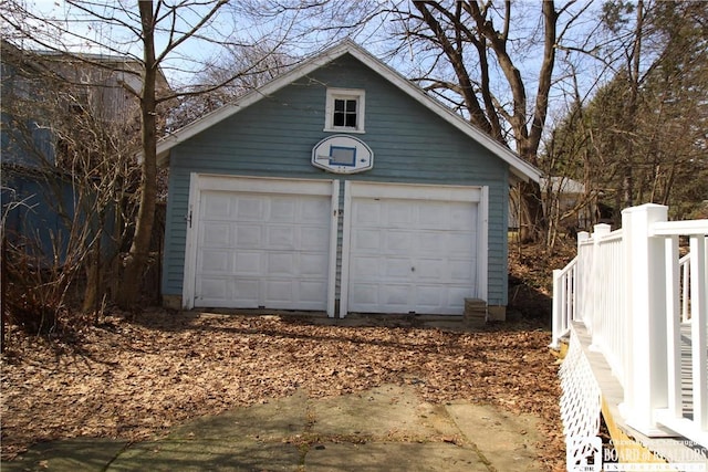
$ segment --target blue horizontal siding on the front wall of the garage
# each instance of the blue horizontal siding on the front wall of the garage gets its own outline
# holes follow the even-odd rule
[[[333,134],[323,132],[327,86],[366,91],[365,134],[355,136],[374,151],[373,169],[343,176],[311,165],[313,146]],[[487,186],[488,303],[507,304],[508,164],[348,54],[170,150],[166,295],[183,293],[190,172]]]

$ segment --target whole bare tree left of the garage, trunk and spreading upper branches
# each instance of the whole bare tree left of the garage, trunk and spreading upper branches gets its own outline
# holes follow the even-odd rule
[[[93,46],[101,52],[127,54],[138,61],[140,69],[135,71],[139,87],[125,83],[126,92],[134,94],[140,106],[140,187],[139,207],[135,219],[133,243],[125,258],[125,274],[122,292],[117,302],[124,307],[133,306],[138,298],[142,275],[149,253],[155,206],[157,199],[156,144],[160,136],[158,126],[159,105],[178,96],[194,95],[231,83],[242,71],[233,71],[221,83],[189,91],[171,91],[157,86],[160,70],[185,72],[189,64],[198,62],[194,57],[184,61],[184,49],[188,42],[207,42],[220,46],[233,46],[260,41],[249,30],[244,39],[238,36],[236,21],[239,11],[247,10],[240,4],[229,4],[226,0],[183,1],[169,3],[140,1],[137,11],[133,4],[104,1],[65,2],[62,15],[51,15],[27,8],[24,2],[7,1],[0,9],[6,32],[23,43],[40,45],[44,49],[72,54],[76,46]],[[243,4],[243,7],[249,7]],[[219,14],[231,15],[227,22],[216,22]],[[295,22],[294,17],[281,22],[273,18],[268,32],[275,46],[284,42]],[[88,24],[88,29],[81,29]],[[228,27],[227,27],[228,25]],[[88,61],[81,55],[77,59]],[[96,62],[97,66],[101,66]],[[194,69],[191,71],[194,73]],[[135,81],[132,81],[135,82]]]

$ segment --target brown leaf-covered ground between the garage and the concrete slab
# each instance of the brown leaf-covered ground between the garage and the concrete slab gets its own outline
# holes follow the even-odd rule
[[[178,423],[303,389],[311,397],[415,385],[427,401],[466,399],[539,416],[548,470],[564,449],[558,365],[548,331],[482,332],[294,314],[150,311],[106,316],[71,338],[9,334],[2,359],[2,458],[72,437],[143,440]]]

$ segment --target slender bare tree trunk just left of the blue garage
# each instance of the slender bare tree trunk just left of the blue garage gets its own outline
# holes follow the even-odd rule
[[[140,93],[142,139],[143,139],[143,177],[140,181],[140,204],[135,222],[135,235],[128,256],[125,261],[123,290],[118,293],[118,305],[125,310],[138,303],[143,275],[149,255],[155,203],[157,200],[157,132],[156,132],[156,96],[157,62],[155,60],[155,21],[153,2],[138,2],[143,28],[144,75]]]

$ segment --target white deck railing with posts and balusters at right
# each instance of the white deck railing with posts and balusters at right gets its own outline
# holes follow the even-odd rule
[[[629,426],[708,447],[708,220],[666,220],[666,207],[644,204],[623,211],[622,230],[579,235],[577,256],[553,271],[551,347],[582,322],[624,388]]]

